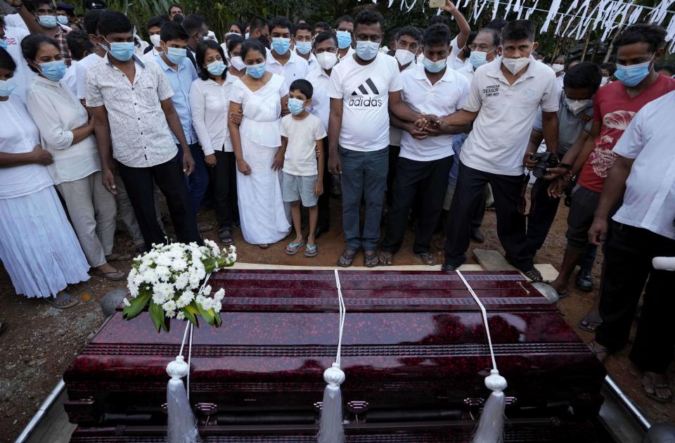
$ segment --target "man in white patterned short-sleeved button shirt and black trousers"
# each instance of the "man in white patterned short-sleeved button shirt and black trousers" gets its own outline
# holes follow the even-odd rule
[[[195,161],[171,101],[171,85],[156,63],[144,65],[134,56],[131,22],[124,14],[101,14],[98,31],[108,53],[86,73],[86,105],[94,117],[103,186],[117,192],[117,167],[149,247],[165,243],[155,213],[154,180],[167,199],[178,240],[201,244],[183,175],[193,172]],[[183,150],[182,165],[172,133]]]

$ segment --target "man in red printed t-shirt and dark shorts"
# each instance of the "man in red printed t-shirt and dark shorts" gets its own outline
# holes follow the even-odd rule
[[[553,193],[559,192],[580,172],[567,217],[567,250],[560,274],[551,283],[560,295],[567,293],[574,267],[589,243],[588,231],[593,224],[600,192],[617,158],[614,146],[638,110],[675,90],[675,79],[659,75],[654,68],[663,53],[665,37],[666,31],[662,27],[642,24],[626,27],[617,37],[615,76],[619,81],[598,89],[593,100],[591,136],[580,153],[579,149],[570,149],[565,154],[563,163],[574,166],[551,185]],[[600,322],[597,308],[591,309],[589,316],[581,322],[582,328],[592,330],[593,325]]]

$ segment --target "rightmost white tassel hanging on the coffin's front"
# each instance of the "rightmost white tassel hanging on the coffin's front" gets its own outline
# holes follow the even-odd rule
[[[506,389],[506,378],[499,375],[496,369],[492,369],[485,378],[485,386],[492,393],[483,406],[473,443],[501,443],[504,437],[506,398],[503,390]]]

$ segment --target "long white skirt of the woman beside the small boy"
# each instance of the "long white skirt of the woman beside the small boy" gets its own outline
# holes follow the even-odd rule
[[[279,172],[272,170],[277,148],[260,146],[241,138],[244,160],[251,174],[237,170],[239,217],[244,240],[252,245],[270,245],[283,240],[290,220],[281,199]]]

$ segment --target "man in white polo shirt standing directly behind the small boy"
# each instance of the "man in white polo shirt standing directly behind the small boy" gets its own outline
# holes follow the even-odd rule
[[[271,50],[267,53],[266,70],[281,75],[286,87],[297,79],[304,79],[309,73],[307,60],[290,50],[293,43],[293,23],[285,17],[276,17],[269,23],[272,37]]]

